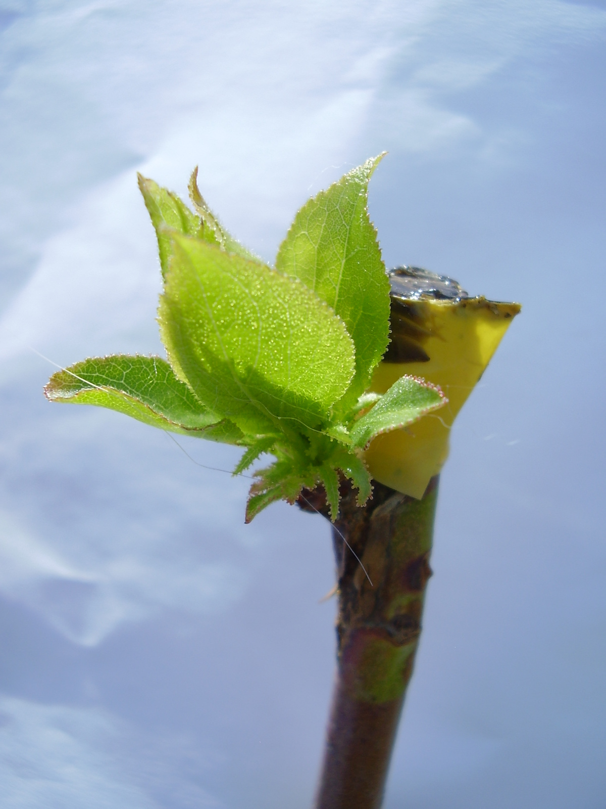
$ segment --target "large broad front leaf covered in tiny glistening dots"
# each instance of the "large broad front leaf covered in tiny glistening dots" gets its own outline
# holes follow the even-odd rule
[[[158,320],[171,365],[246,434],[315,429],[347,389],[343,322],[294,278],[174,236]]]

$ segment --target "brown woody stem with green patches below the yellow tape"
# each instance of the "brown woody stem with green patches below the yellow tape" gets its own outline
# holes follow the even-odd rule
[[[422,500],[376,481],[364,508],[356,506],[347,485],[342,493],[338,530],[333,530],[339,582],[337,681],[315,807],[379,809],[431,576],[438,477],[431,479]],[[322,492],[307,492],[305,498],[309,503],[300,501],[305,510],[313,503],[326,513]]]

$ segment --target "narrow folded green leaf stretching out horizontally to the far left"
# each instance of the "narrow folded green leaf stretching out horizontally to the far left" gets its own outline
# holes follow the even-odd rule
[[[52,401],[96,404],[186,435],[239,443],[242,432],[212,413],[159,357],[90,358],[57,371],[44,393]]]

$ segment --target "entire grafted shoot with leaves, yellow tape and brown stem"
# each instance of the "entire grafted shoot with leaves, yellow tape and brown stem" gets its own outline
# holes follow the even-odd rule
[[[368,218],[382,156],[305,203],[275,267],[225,231],[197,169],[193,211],[139,176],[166,359],[89,358],[44,389],[242,447],[234,474],[273,455],[254,473],[246,522],[284,499],[335,523],[339,671],[318,809],[381,806],[448,432],[520,310],[423,270],[386,272]]]

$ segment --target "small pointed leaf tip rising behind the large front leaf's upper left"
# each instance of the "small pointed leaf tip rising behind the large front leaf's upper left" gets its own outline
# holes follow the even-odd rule
[[[172,250],[170,231],[204,238],[204,228],[200,218],[192,214],[175,193],[161,188],[154,180],[148,180],[141,174],[137,174],[137,179],[158,238],[162,277],[166,277]]]

